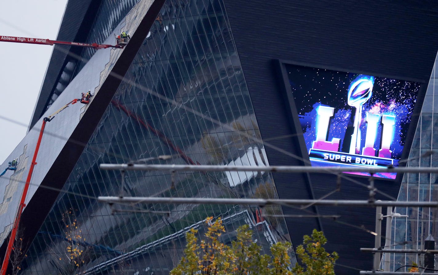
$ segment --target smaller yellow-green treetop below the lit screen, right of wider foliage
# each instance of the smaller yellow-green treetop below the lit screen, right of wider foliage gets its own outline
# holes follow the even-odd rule
[[[339,258],[338,253],[332,254],[325,251],[323,245],[327,239],[322,231],[313,229],[312,235],[304,235],[303,244],[297,247],[295,253],[302,264],[296,264],[292,269],[296,275],[335,275],[335,262]]]

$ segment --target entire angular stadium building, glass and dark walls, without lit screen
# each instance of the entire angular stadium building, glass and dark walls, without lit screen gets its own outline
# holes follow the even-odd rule
[[[330,194],[329,199],[366,199],[366,177],[349,176],[342,180],[339,190],[336,176],[325,174],[122,175],[99,169],[100,163],[131,161],[303,165],[297,128],[292,121],[297,109],[290,108],[281,87],[290,83],[284,81],[287,77],[281,76],[276,67],[281,60],[299,66],[418,81],[421,92],[417,102],[422,103],[426,93],[423,85],[429,81],[438,45],[438,38],[430,36],[437,28],[434,14],[438,13],[424,11],[437,11],[438,6],[387,1],[376,9],[374,4],[350,2],[70,1],[58,40],[109,44],[122,30],[128,31],[132,39],[124,49],[96,51],[71,46],[68,56],[62,51],[64,46],[54,46],[31,130],[8,157],[19,157],[18,168],[0,178],[0,187],[4,188],[0,192],[4,194],[0,204],[0,250],[6,247],[4,240],[11,231],[42,118],[77,98],[80,92],[92,89],[90,104],[71,106],[47,124],[21,220],[22,229],[28,233],[23,236],[32,239],[21,273],[68,274],[76,270],[85,274],[167,274],[181,256],[184,233],[197,228],[202,235],[207,216],[224,219],[226,243],[235,238],[237,226],[250,225],[255,231],[254,241],[265,252],[276,241],[291,239],[296,245],[304,234],[321,229],[329,239],[327,250],[340,255],[336,274],[369,270],[372,256],[359,249],[374,244],[374,235],[368,230],[374,228],[372,208],[312,206],[301,212],[284,208],[285,222],[283,217],[277,219],[281,208],[265,208],[267,215],[262,219],[256,206],[110,206],[95,200],[99,195],[121,193],[277,197],[277,190],[280,198],[317,199]],[[389,12],[403,16],[388,17]],[[367,28],[363,28],[364,22]],[[382,29],[391,31],[382,36],[376,31]],[[76,54],[80,58],[73,57]],[[110,72],[124,76],[121,84]],[[435,147],[436,108],[431,88],[426,97],[412,156]],[[47,110],[46,114],[43,110]],[[419,113],[420,108],[415,107],[413,118]],[[409,132],[413,133],[417,125],[410,126],[413,130]],[[406,141],[408,147],[412,136]],[[160,159],[160,155],[166,157]],[[419,162],[412,159],[409,165],[435,166],[434,158],[432,155]],[[1,166],[5,169],[7,161]],[[432,175],[406,175],[399,200],[435,199],[434,182]],[[393,181],[375,180],[380,194],[393,200],[401,183],[399,177]],[[59,192],[59,188],[64,189]],[[337,192],[333,193],[335,188]],[[393,244],[403,242],[397,248],[421,247],[428,233],[437,239],[434,212],[406,208],[396,211],[410,215],[408,222],[394,222]],[[313,215],[311,219],[297,216],[309,213]],[[340,218],[325,219],[318,214],[336,214]],[[81,255],[76,255],[81,256],[79,268],[65,258],[66,251],[81,251]],[[292,264],[295,261],[293,258]],[[393,269],[412,261],[421,264],[422,260],[392,255]]]

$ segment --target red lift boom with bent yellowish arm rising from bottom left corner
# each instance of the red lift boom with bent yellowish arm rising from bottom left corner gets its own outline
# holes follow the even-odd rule
[[[12,227],[12,230],[11,230],[11,236],[9,238],[9,242],[7,243],[6,254],[5,254],[4,259],[3,259],[3,264],[1,266],[0,275],[6,275],[7,266],[9,264],[9,258],[11,257],[12,246],[14,244],[15,237],[17,236],[18,225],[19,225],[20,219],[21,219],[21,213],[23,212],[23,210],[26,206],[25,199],[26,199],[26,195],[27,195],[27,192],[29,189],[30,180],[32,178],[32,172],[33,172],[33,169],[34,169],[35,164],[36,164],[36,162],[35,162],[36,156],[38,155],[39,145],[41,144],[42,134],[44,133],[44,128],[46,127],[46,123],[53,120],[53,118],[58,113],[60,113],[65,108],[67,108],[70,104],[74,104],[78,101],[81,102],[81,99],[73,99],[71,102],[68,102],[66,105],[64,105],[60,109],[58,109],[55,113],[51,114],[50,116],[46,116],[42,120],[41,130],[39,130],[38,141],[36,142],[35,152],[33,153],[33,158],[32,158],[29,173],[28,173],[28,176],[26,179],[25,187],[23,188],[23,193],[21,194],[20,205],[18,206],[18,210],[17,210],[17,213],[15,215],[15,219],[14,219],[14,226]]]

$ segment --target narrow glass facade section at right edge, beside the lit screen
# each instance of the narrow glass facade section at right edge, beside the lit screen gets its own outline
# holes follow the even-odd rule
[[[438,60],[435,60],[424,105],[421,109],[420,120],[415,132],[412,149],[407,166],[410,167],[437,167],[438,156],[430,155],[430,151],[438,148],[438,74],[436,71]],[[438,201],[436,174],[406,173],[403,177],[398,201]],[[408,215],[408,218],[395,218],[392,221],[392,247],[396,249],[424,249],[424,240],[432,236],[438,240],[436,208],[396,208],[396,213]],[[436,246],[435,246],[436,248]],[[393,270],[403,271],[417,263],[424,266],[424,256],[413,254],[392,254],[391,266]],[[435,268],[437,264],[435,264]]]

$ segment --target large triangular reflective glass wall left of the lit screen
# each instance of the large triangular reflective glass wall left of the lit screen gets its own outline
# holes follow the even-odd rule
[[[102,1],[98,14],[105,15],[96,18],[90,41],[109,35],[135,4],[122,2]],[[91,55],[87,50],[82,57]],[[79,62],[75,71],[81,69],[87,67]],[[159,160],[160,155],[170,159]],[[145,161],[268,165],[222,0],[166,1],[33,240],[21,273],[167,274],[182,255],[184,233],[190,228],[202,233],[209,216],[224,219],[226,243],[242,224],[250,225],[265,252],[272,243],[289,240],[284,218],[275,217],[282,213],[279,207],[265,208],[271,217],[262,219],[260,209],[250,206],[109,206],[95,200],[121,193],[277,197],[269,173],[121,174],[99,169],[100,163]],[[74,249],[83,254],[79,267],[68,253],[66,258],[65,252]]]

